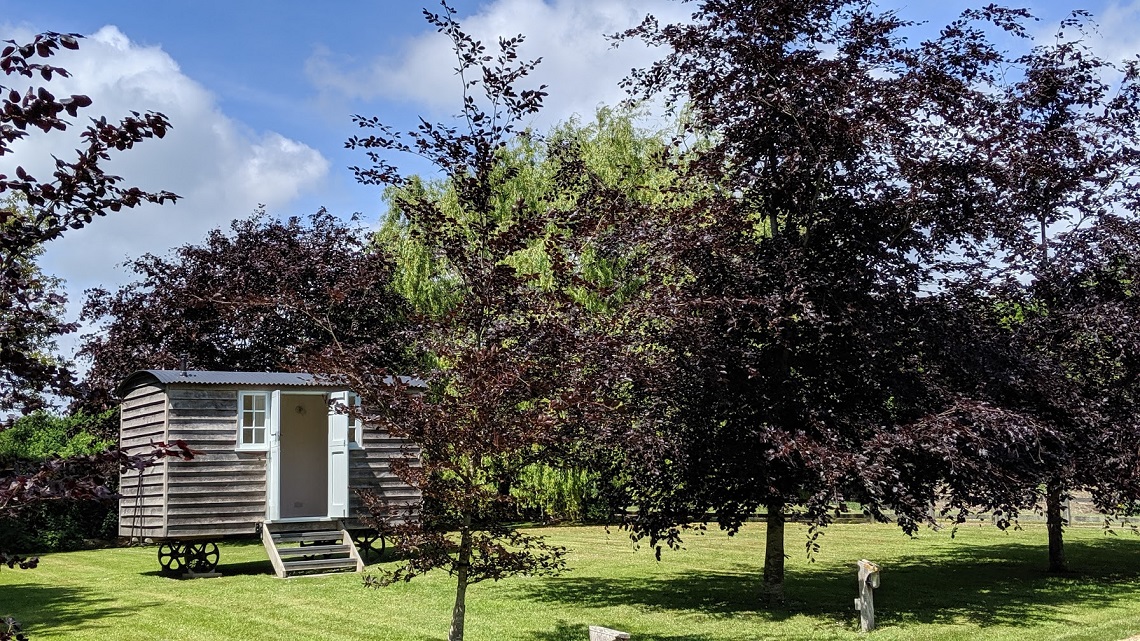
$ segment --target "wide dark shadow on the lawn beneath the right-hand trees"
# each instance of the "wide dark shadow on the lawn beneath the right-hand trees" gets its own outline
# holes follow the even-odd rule
[[[876,591],[880,626],[972,623],[1032,627],[1065,620],[1059,608],[1081,603],[1110,607],[1140,599],[1140,541],[1104,539],[1066,544],[1073,574],[1044,570],[1044,551],[1020,543],[962,544],[923,557],[882,559]],[[814,563],[790,571],[785,605],[760,605],[760,567],[689,570],[654,577],[552,578],[527,586],[520,597],[539,602],[605,608],[755,616],[781,622],[796,615],[854,628],[855,565]],[[580,638],[581,631],[576,634]],[[555,628],[542,640],[571,639]],[[684,638],[690,639],[690,638]],[[697,638],[692,638],[697,639]]]

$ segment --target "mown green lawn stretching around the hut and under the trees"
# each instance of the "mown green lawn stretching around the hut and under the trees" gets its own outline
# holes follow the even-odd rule
[[[865,639],[854,610],[854,561],[883,567],[871,638],[931,640],[1107,640],[1140,632],[1140,538],[1096,528],[1066,533],[1072,576],[1050,576],[1045,530],[1003,534],[969,526],[907,538],[890,526],[829,528],[816,562],[806,529],[789,526],[784,608],[757,606],[763,525],[730,538],[691,536],[687,549],[635,551],[621,532],[545,530],[568,546],[571,570],[469,592],[471,641],[584,641],[606,625],[634,641]],[[221,546],[220,578],[157,575],[155,549],[50,554],[40,568],[0,571],[0,616],[33,640],[443,639],[447,575],[381,590],[359,575],[282,581],[260,545]]]

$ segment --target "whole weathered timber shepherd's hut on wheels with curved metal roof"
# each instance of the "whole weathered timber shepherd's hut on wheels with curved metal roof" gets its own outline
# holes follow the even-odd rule
[[[144,370],[119,396],[123,447],[184,440],[202,453],[121,478],[119,534],[158,543],[166,573],[212,573],[217,542],[243,537],[262,539],[280,577],[359,571],[353,539],[372,547],[380,533],[353,490],[420,501],[390,470],[406,441],[337,413],[356,396],[310,374]]]

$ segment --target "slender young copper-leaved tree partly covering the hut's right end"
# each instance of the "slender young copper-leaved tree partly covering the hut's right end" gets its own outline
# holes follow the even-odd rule
[[[522,36],[500,39],[489,51],[462,31],[447,5],[425,16],[456,54],[464,91],[457,121],[423,121],[398,133],[378,119],[357,116],[368,133],[347,146],[367,154],[369,164],[355,169],[357,179],[391,188],[392,206],[454,295],[446,309],[414,317],[401,334],[415,350],[405,371],[370,365],[367,349],[334,349],[318,368],[360,395],[366,425],[415,444],[393,470],[422,492],[431,518],[415,514],[396,528],[396,543],[409,559],[373,583],[449,573],[456,592],[448,639],[459,641],[469,585],[563,569],[563,549],[512,527],[516,512],[498,481],[562,447],[596,405],[580,391],[573,367],[579,310],[563,295],[575,266],[560,230],[572,235],[575,221],[548,198],[507,187],[518,171],[507,162],[507,146],[526,135],[519,123],[545,96],[543,88],[519,88],[537,60],[519,59]],[[391,154],[426,159],[442,188],[405,177]],[[534,251],[545,255],[549,270],[522,266],[521,254]],[[542,285],[544,277],[554,284]],[[390,378],[397,373],[425,388],[409,389]],[[378,519],[407,517],[402,505],[372,506]]]

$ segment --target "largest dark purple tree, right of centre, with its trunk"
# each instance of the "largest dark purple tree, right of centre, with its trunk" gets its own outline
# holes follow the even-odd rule
[[[734,532],[766,508],[774,599],[785,505],[821,522],[844,497],[874,506],[862,451],[914,411],[912,257],[939,221],[899,177],[920,109],[938,104],[909,66],[906,26],[862,1],[707,1],[692,23],[620,35],[666,48],[628,87],[689,100],[710,144],[686,186],[718,187],[626,232],[650,257],[630,526],[676,545],[676,526],[709,510]]]

